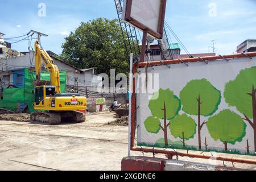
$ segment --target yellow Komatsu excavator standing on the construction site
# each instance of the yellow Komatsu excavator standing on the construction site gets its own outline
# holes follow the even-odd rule
[[[40,78],[42,61],[50,73],[50,82]],[[61,93],[59,68],[38,41],[35,42],[35,70],[34,108],[38,111],[30,115],[31,121],[46,125],[58,125],[63,121],[84,122],[85,114],[77,110],[86,109],[86,97]]]

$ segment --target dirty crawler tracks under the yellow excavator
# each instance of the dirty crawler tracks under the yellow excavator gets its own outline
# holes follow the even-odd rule
[[[61,122],[82,123],[85,122],[85,114],[79,111],[36,112],[30,114],[30,119],[43,125],[59,125]]]

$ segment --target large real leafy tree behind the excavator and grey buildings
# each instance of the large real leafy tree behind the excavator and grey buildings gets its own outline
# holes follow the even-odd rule
[[[117,19],[82,22],[65,38],[62,59],[78,68],[95,68],[97,74],[129,73],[129,60]]]

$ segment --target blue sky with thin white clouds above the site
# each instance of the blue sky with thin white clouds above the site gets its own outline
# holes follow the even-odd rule
[[[46,4],[46,17],[38,16],[38,4]],[[0,32],[6,38],[36,30],[45,49],[61,53],[61,44],[80,22],[106,17],[117,18],[114,0],[0,1]],[[215,11],[216,10],[216,11]],[[166,21],[190,53],[208,52],[216,40],[216,52],[229,54],[246,39],[256,39],[256,0],[167,0]],[[176,42],[172,38],[173,42]],[[28,41],[13,44],[27,51]],[[181,53],[184,53],[182,51]]]

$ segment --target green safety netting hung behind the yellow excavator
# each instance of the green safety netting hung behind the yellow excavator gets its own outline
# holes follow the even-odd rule
[[[64,93],[66,89],[66,77],[67,72],[60,72],[60,89]],[[30,113],[33,113],[34,110],[34,84],[35,73],[30,73],[27,68],[24,69],[24,86],[22,88],[11,88],[3,89],[3,100],[0,100],[0,108],[9,109],[16,111],[18,105],[27,104]],[[41,80],[49,81],[49,73],[42,72]]]

